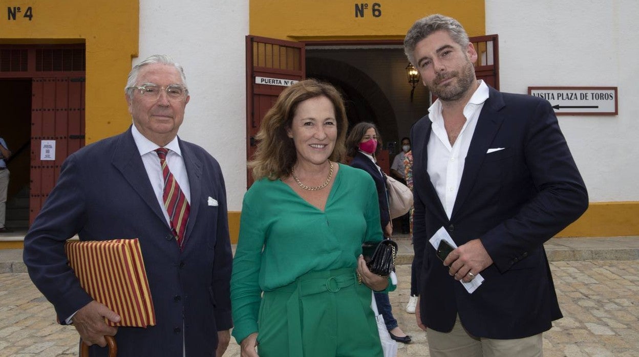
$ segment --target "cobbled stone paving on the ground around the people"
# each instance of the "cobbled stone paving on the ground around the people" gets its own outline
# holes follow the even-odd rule
[[[639,356],[639,261],[551,262],[564,318],[544,333],[544,356]],[[397,266],[390,294],[399,326],[413,343],[398,357],[428,356],[426,335],[404,311],[410,265]],[[77,334],[55,323],[52,306],[25,273],[0,274],[0,356],[77,356]],[[240,356],[232,339],[224,356]]]

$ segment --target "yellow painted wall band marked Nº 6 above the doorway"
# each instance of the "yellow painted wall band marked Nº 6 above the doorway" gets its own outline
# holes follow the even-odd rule
[[[367,4],[363,17],[355,4]],[[433,13],[459,20],[469,36],[486,34],[484,0],[250,0],[249,33],[296,41],[403,39],[415,20]]]

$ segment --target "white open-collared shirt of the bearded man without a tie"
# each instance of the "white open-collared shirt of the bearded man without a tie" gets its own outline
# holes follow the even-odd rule
[[[483,80],[479,82],[479,87],[464,107],[466,123],[462,126],[452,147],[443,125],[442,102],[438,99],[428,108],[428,118],[433,124],[427,146],[426,169],[449,219],[457,198],[461,174],[464,172],[468,147],[477,126],[477,118],[484,107],[484,102],[488,99],[488,86]]]

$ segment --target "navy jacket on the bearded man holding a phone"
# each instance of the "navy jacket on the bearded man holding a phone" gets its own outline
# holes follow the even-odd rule
[[[562,317],[543,243],[588,206],[585,185],[546,100],[489,88],[450,219],[427,172],[427,116],[412,128],[413,238],[421,318],[448,332],[456,314],[472,335],[523,338]],[[487,153],[491,148],[504,148]],[[445,227],[457,245],[481,239],[493,264],[468,294],[428,239]],[[477,272],[475,272],[477,273]]]

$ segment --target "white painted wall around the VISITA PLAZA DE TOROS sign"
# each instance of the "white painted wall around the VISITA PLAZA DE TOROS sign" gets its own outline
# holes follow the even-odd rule
[[[639,1],[486,0],[500,89],[619,87],[618,116],[559,116],[590,202],[639,201]]]

